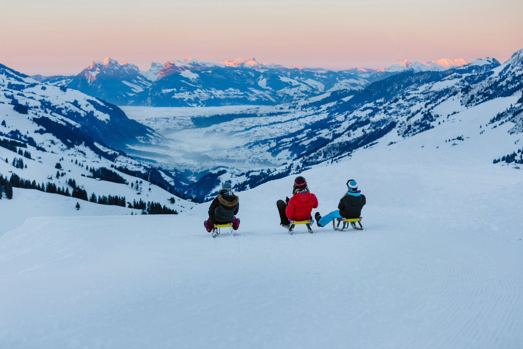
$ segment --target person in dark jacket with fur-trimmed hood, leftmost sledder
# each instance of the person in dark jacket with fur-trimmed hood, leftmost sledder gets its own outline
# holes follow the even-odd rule
[[[232,222],[232,228],[240,227],[240,220],[236,218],[240,209],[238,197],[232,192],[232,184],[225,182],[220,193],[212,200],[209,207],[209,219],[203,222],[203,226],[211,232],[216,224],[227,224]]]

